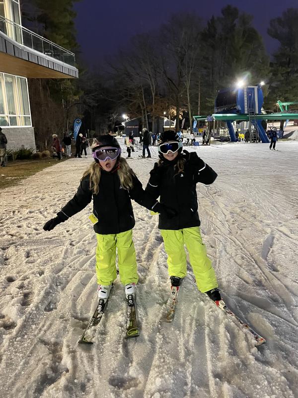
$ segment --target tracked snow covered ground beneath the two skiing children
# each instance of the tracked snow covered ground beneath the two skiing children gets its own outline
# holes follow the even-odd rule
[[[0,397],[297,398],[298,142],[224,143],[197,151],[219,174],[197,186],[202,233],[227,305],[267,343],[218,309],[189,268],[172,324],[157,217],[134,203],[141,336],[124,340],[119,281],[93,346],[78,345],[95,308],[91,206],[45,232],[90,159],[70,159],[0,192]],[[133,153],[146,185],[157,159]],[[124,154],[125,155],[125,154]]]

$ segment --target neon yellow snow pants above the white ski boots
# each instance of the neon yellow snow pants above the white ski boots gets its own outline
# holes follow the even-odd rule
[[[117,234],[96,234],[96,277],[98,285],[111,285],[116,277],[116,248],[120,282],[138,283],[133,230]]]

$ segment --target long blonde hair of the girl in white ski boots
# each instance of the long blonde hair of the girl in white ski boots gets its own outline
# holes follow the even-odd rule
[[[127,161],[123,158],[119,158],[119,168],[116,172],[119,176],[120,184],[125,189],[133,188],[133,176],[135,173],[129,167]],[[101,168],[98,163],[91,163],[87,170],[84,172],[81,180],[89,175],[89,188],[92,194],[98,194],[99,192],[99,181],[101,175]]]

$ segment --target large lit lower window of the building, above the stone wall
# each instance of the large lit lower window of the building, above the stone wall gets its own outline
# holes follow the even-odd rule
[[[31,126],[26,78],[0,73],[0,126]]]

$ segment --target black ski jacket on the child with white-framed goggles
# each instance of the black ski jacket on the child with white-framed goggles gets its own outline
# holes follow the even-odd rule
[[[217,173],[208,166],[195,152],[178,155],[172,162],[155,163],[150,171],[150,179],[146,191],[154,199],[160,196],[160,203],[176,210],[177,215],[167,218],[159,214],[159,229],[182,229],[196,227],[201,224],[198,213],[196,184],[212,184]],[[177,173],[179,157],[185,159],[184,171]],[[153,206],[154,211],[154,206]]]

